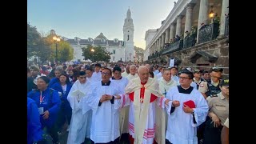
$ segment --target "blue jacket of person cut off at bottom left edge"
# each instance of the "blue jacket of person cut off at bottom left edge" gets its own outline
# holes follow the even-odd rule
[[[40,114],[38,113],[38,106],[33,99],[27,98],[27,144],[38,142],[42,140],[42,129],[40,122]]]

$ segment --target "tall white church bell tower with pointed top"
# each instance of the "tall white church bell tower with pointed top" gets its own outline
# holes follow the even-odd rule
[[[125,62],[134,62],[134,22],[131,18],[130,8],[127,10],[125,24],[123,25],[123,42],[125,46]]]

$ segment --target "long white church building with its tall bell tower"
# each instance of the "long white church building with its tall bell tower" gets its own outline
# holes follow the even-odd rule
[[[75,37],[74,39],[63,38],[66,42],[70,43],[70,46],[74,48],[73,62],[82,62],[84,57],[82,56],[82,47],[88,45],[102,46],[107,51],[112,53],[110,55],[110,62],[129,62],[134,61],[134,22],[131,18],[130,8],[127,10],[126,19],[123,25],[123,40],[114,38],[110,40],[100,33],[96,38],[82,39]]]

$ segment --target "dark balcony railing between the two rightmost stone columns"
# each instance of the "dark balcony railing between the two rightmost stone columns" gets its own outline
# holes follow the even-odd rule
[[[198,34],[198,43],[214,40],[218,36],[219,23],[212,22],[210,25],[204,25],[200,28]]]

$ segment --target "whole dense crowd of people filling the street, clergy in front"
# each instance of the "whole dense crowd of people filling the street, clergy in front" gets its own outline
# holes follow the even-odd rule
[[[27,68],[27,143],[226,144],[222,68],[59,65]]]

